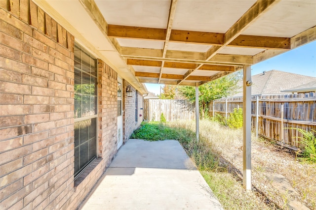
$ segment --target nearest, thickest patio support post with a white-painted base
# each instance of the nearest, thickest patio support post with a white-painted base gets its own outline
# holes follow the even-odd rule
[[[243,187],[251,190],[251,65],[243,65]]]

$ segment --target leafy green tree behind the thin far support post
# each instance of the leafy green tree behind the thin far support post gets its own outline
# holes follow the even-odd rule
[[[237,82],[241,78],[240,72],[229,74],[198,87],[198,101],[201,117],[205,117],[210,101],[232,95],[237,90]],[[180,94],[191,102],[196,101],[196,90],[192,86],[178,88]]]

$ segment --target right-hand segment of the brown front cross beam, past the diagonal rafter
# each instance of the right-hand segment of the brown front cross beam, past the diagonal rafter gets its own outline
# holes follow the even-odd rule
[[[289,50],[291,39],[283,37],[239,35],[227,46]]]

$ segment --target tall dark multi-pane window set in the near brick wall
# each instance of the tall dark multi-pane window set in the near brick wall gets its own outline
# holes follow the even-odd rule
[[[97,157],[97,60],[75,44],[75,179]]]

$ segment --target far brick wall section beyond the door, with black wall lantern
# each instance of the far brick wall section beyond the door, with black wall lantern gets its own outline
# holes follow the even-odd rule
[[[140,92],[138,92],[138,120],[136,122],[136,90],[133,86],[131,86],[131,90],[133,91],[133,97],[127,97],[126,95],[126,87],[131,86],[126,80],[123,80],[123,142],[126,143],[133,133],[133,131],[140,126],[143,121],[143,112],[140,108],[143,108],[143,96]],[[142,115],[140,117],[140,114]]]

